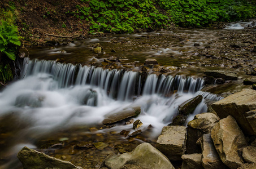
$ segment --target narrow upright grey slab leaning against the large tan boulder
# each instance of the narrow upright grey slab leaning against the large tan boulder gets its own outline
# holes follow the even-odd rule
[[[214,143],[211,139],[211,134],[205,134],[202,136],[201,141],[202,149],[202,165],[207,169],[222,169],[227,168],[225,164],[220,160],[219,154],[216,152]]]

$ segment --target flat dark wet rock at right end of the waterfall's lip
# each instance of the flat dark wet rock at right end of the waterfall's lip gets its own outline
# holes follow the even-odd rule
[[[236,81],[237,80],[237,75],[236,73],[233,72],[227,72],[224,70],[207,70],[204,72],[206,75],[211,75],[212,77],[215,78],[223,78],[225,80],[232,80]]]

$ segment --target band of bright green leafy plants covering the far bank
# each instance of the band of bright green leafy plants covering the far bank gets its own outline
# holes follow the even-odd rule
[[[136,29],[211,26],[216,21],[255,17],[255,4],[245,0],[81,0],[67,11],[90,23],[90,32],[131,33]]]

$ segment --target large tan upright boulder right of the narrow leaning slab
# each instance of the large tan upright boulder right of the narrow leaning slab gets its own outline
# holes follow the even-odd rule
[[[243,162],[238,149],[247,145],[245,136],[235,118],[221,119],[211,130],[211,138],[222,162],[229,168],[241,167]]]

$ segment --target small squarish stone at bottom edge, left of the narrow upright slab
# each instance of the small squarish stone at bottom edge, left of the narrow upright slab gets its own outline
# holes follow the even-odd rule
[[[181,169],[203,169],[202,154],[184,154]]]

